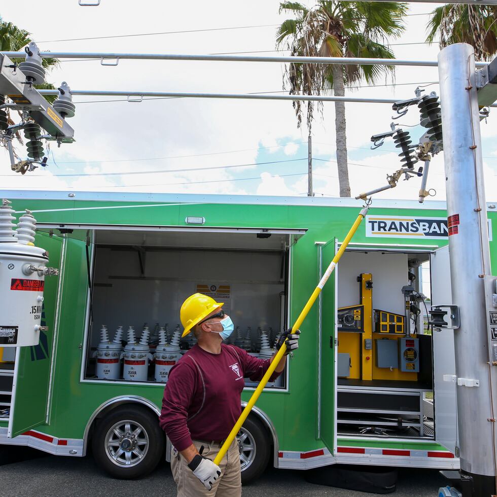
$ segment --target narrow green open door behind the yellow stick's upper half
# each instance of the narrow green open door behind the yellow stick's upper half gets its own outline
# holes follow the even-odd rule
[[[335,257],[336,239],[319,244],[319,278]],[[336,347],[335,311],[337,269],[328,280],[319,297],[319,371],[318,371],[318,438],[333,455],[336,445]]]

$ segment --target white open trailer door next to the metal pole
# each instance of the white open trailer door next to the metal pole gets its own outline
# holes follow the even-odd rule
[[[435,250],[430,257],[432,305],[452,304],[448,245]],[[444,375],[455,375],[454,331],[433,332],[433,381],[435,440],[455,453],[457,405],[455,383],[444,381]]]

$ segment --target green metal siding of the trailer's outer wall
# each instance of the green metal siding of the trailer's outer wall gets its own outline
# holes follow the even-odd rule
[[[315,241],[327,241],[333,237],[342,240],[358,215],[358,208],[289,206],[289,205],[154,205],[129,207],[126,202],[90,201],[19,201],[13,202],[16,209],[29,208],[34,211],[38,222],[44,223],[84,223],[119,225],[166,225],[185,226],[187,216],[203,216],[206,226],[257,227],[257,228],[307,228],[305,236],[298,240],[292,249],[291,259],[291,316],[296,318],[309,295],[313,291],[318,274],[318,249]],[[145,204],[140,204],[145,205]],[[98,207],[91,210],[72,210]],[[106,208],[112,207],[112,208]],[[115,208],[125,207],[125,208]],[[36,212],[39,209],[67,209],[52,212]],[[371,213],[399,215],[399,209],[371,209]],[[445,211],[409,209],[401,215],[444,217]],[[497,218],[494,212],[489,217]],[[408,240],[402,238],[366,238],[365,224],[359,228],[353,242],[373,243],[425,243],[444,245],[446,240]],[[39,242],[40,243],[40,242]],[[40,243],[41,244],[41,243]],[[491,243],[492,260],[497,257]],[[330,261],[323,261],[327,265]],[[494,265],[495,267],[495,265]],[[68,239],[63,279],[62,304],[58,328],[58,347],[51,403],[50,425],[38,430],[58,438],[83,438],[88,419],[94,410],[110,398],[121,395],[145,397],[160,406],[162,385],[133,385],[112,383],[85,383],[80,381],[82,343],[87,299],[87,268],[85,244]],[[258,407],[272,419],[279,440],[279,450],[308,451],[323,447],[323,441],[316,439],[317,406],[317,306],[310,311],[301,327],[302,339],[298,352],[291,360],[289,392],[264,392]],[[331,386],[331,385],[330,385]],[[251,392],[244,392],[243,400]],[[18,392],[29,408],[29,390]],[[324,421],[324,420],[323,420]],[[333,419],[329,420],[334,423]],[[1,424],[0,424],[1,425]],[[435,442],[405,443],[393,440],[373,442],[366,438],[360,441],[342,439],[339,445],[363,447],[392,447],[411,449],[443,450]]]

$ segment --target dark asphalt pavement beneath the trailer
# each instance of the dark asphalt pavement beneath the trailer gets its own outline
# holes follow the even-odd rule
[[[436,497],[444,480],[436,470],[400,469],[395,497]],[[114,480],[100,470],[91,456],[65,457],[42,455],[0,466],[0,496],[73,497],[93,495],[160,495],[176,494],[168,463],[163,463],[141,480]],[[314,485],[304,479],[302,471],[268,468],[257,481],[244,486],[243,497],[298,495],[365,497],[368,493]]]

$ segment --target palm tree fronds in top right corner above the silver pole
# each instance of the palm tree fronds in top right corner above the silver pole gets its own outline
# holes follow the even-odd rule
[[[469,43],[476,58],[490,60],[497,54],[497,7],[495,5],[447,4],[437,7],[428,22],[427,42],[437,35],[440,49],[453,43]]]

